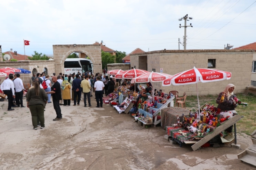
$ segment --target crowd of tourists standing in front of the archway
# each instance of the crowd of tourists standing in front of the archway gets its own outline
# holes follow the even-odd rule
[[[96,73],[95,76],[90,72],[77,74],[45,75],[44,72],[33,74],[32,84],[25,90],[20,74],[9,74],[1,84],[0,92],[8,97],[8,111],[13,111],[14,107],[25,107],[23,105],[23,95],[26,92],[26,102],[32,116],[33,129],[41,126],[44,129],[44,111],[47,103],[53,103],[56,118],[53,121],[62,119],[60,105],[80,106],[81,97],[84,98],[84,107],[92,107],[91,97],[93,92],[97,101],[96,107],[103,107],[102,97],[114,91],[116,79],[112,76]],[[82,93],[84,94],[82,96]],[[52,101],[51,101],[52,97]]]

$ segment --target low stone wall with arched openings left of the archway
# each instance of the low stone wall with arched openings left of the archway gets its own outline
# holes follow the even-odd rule
[[[32,82],[32,71],[36,69],[37,72],[42,73],[44,72],[44,68],[47,69],[48,75],[50,76],[52,73],[55,73],[55,61],[54,60],[37,60],[37,61],[4,61],[0,62],[0,68],[3,67],[13,67],[13,68],[22,68],[31,71],[31,74],[20,74],[20,78],[23,80],[23,83],[30,83]],[[56,73],[57,75],[59,73]],[[1,78],[2,81],[5,77]]]

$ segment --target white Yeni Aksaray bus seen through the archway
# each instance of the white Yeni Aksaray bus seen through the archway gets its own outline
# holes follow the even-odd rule
[[[64,74],[77,74],[90,71],[93,73],[93,64],[90,59],[86,58],[67,58],[64,62]]]

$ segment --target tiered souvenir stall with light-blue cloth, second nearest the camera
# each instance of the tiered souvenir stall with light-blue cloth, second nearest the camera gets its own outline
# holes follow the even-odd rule
[[[155,101],[153,99],[147,99],[143,102],[142,105],[139,104],[139,109],[137,114],[132,114],[135,120],[138,121],[138,125],[153,125],[156,127],[158,123],[161,122],[161,109],[168,107],[170,104],[173,107],[173,99],[175,96],[170,98],[162,98],[159,96],[155,96]],[[160,116],[158,116],[160,115]],[[153,123],[153,116],[155,116],[155,121]],[[158,120],[157,120],[158,118]]]

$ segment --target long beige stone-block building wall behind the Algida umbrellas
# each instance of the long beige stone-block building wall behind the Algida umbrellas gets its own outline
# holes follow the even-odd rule
[[[254,50],[160,50],[141,54],[131,54],[131,65],[140,68],[139,57],[147,55],[148,71],[156,69],[163,73],[177,74],[179,72],[196,68],[207,68],[208,59],[216,60],[217,70],[229,71],[232,77],[229,80],[197,84],[199,95],[219,94],[226,85],[234,84],[235,93],[246,92],[246,86],[251,84],[252,56]],[[196,95],[196,85],[162,86],[162,82],[153,83],[154,89],[163,92],[176,90],[179,94]]]

